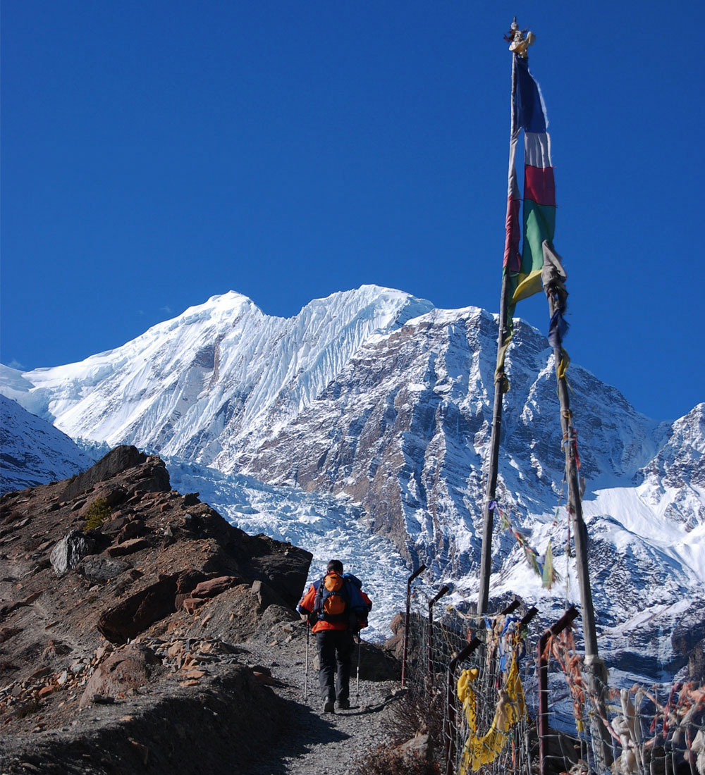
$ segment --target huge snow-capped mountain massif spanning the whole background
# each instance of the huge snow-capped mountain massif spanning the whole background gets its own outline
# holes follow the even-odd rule
[[[363,286],[282,319],[230,292],[81,363],[5,368],[0,391],[70,436],[171,456],[172,471],[178,459],[329,494],[472,596],[495,360],[496,316],[479,308],[439,310]],[[558,607],[578,591],[563,548],[552,353],[520,320],[508,370],[499,505],[540,553],[551,540],[564,582],[543,590],[497,524],[491,594]],[[705,405],[658,422],[575,364],[569,378],[601,625],[641,616],[645,601],[662,618],[676,611],[676,621],[698,613],[702,621]]]

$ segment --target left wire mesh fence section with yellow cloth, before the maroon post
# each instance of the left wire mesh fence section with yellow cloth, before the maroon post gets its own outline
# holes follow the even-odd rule
[[[442,600],[430,610],[423,592],[412,602],[407,688],[434,715],[441,772],[530,773],[535,639],[519,632],[524,611],[478,617]]]

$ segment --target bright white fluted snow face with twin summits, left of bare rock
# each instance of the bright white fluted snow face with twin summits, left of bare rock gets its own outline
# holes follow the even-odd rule
[[[222,451],[219,437],[239,439],[273,410],[286,422],[367,339],[430,309],[365,285],[284,319],[230,291],[81,363],[7,370],[3,389],[71,436],[208,463]]]

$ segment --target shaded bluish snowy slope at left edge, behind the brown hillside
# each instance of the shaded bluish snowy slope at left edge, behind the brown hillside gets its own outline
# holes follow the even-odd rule
[[[0,494],[67,479],[93,462],[65,433],[0,394]]]

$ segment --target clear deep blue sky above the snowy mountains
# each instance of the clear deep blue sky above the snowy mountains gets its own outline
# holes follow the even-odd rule
[[[517,14],[550,119],[566,347],[639,411],[705,400],[702,5],[2,3],[2,362],[230,289],[496,311]],[[544,298],[517,314],[545,330]],[[577,422],[577,417],[576,417]]]

